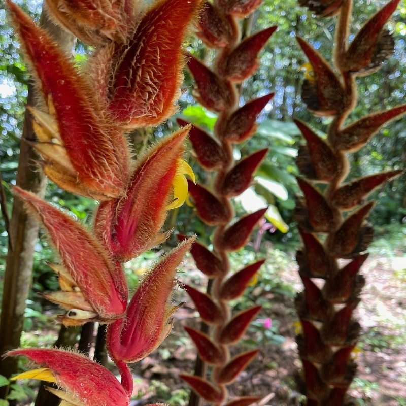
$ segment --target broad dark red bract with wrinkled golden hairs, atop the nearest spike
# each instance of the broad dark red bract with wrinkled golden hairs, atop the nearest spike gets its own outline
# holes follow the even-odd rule
[[[110,111],[127,128],[156,125],[176,111],[184,57],[181,46],[200,0],[160,0],[117,49]]]

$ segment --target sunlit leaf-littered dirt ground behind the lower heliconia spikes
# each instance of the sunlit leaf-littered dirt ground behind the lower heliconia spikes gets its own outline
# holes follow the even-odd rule
[[[186,264],[187,279],[198,280],[193,264]],[[363,266],[367,282],[362,301],[356,313],[363,328],[360,351],[357,353],[358,374],[352,385],[351,395],[357,405],[405,406],[406,405],[406,257],[381,258],[370,256]],[[282,281],[301,289],[295,265],[281,270]],[[183,278],[182,278],[183,279]],[[293,406],[300,402],[294,389],[294,373],[300,367],[295,336],[296,315],[293,297],[263,292],[271,304],[258,319],[271,318],[279,322],[279,334],[285,337],[281,345],[271,345],[262,340],[260,353],[238,380],[229,388],[230,396],[256,395],[266,397],[262,404]],[[196,326],[196,313],[183,291],[178,289],[175,301],[186,300],[185,306],[176,313],[175,328],[160,349],[136,366],[136,390],[138,399],[132,406],[143,405],[159,399],[159,390],[151,394],[151,380],[159,381],[182,393],[184,384],[180,373],[191,373],[195,349],[190,344],[182,325]],[[258,341],[258,331],[248,330],[248,338]],[[254,347],[246,346],[245,350]],[[241,347],[239,348],[241,351]],[[236,352],[234,350],[234,352]],[[158,385],[159,386],[159,385]],[[149,388],[149,389],[148,389]],[[179,404],[179,403],[178,403]]]

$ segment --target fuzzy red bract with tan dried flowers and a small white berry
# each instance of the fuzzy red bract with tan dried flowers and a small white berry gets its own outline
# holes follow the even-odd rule
[[[62,291],[44,294],[67,310],[59,321],[67,326],[92,320],[109,323],[122,316],[128,293],[121,265],[112,262],[100,243],[71,216],[33,193],[19,187],[13,190],[40,218],[59,253],[62,264],[55,270]]]

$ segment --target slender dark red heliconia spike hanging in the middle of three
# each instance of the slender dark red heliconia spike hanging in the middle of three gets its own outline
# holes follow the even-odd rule
[[[238,343],[251,321],[260,311],[253,306],[232,314],[229,301],[240,297],[258,272],[263,260],[239,269],[230,275],[228,253],[244,247],[257,222],[265,214],[264,207],[234,221],[231,198],[240,195],[253,183],[253,174],[265,158],[267,149],[234,161],[233,148],[248,140],[257,128],[256,119],[273,93],[239,106],[239,85],[257,70],[258,54],[276,27],[266,28],[242,39],[240,19],[247,18],[261,1],[206,1],[197,25],[197,36],[216,49],[211,67],[188,55],[188,69],[194,78],[193,95],[206,109],[217,113],[212,134],[198,126],[190,130],[194,156],[206,171],[215,172],[213,184],[206,187],[189,182],[189,196],[197,216],[215,226],[213,249],[193,244],[191,254],[197,268],[209,278],[208,291],[202,293],[185,286],[204,324],[200,330],[186,327],[197,348],[195,375],[181,375],[193,389],[189,405],[196,406],[199,397],[215,404],[248,406],[259,398],[229,399],[227,385],[233,382],[253,360],[258,351],[241,352],[233,358],[230,345]],[[180,126],[189,124],[178,119]],[[183,240],[185,236],[179,235]],[[210,375],[207,366],[211,367]],[[227,403],[230,402],[230,403]]]

